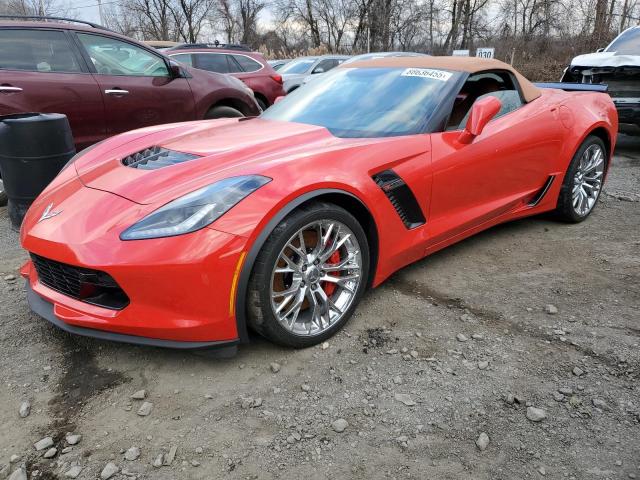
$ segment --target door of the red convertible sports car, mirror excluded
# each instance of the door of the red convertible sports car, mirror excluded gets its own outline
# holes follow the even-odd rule
[[[516,80],[511,80],[512,85],[477,95],[468,105],[470,110],[475,101],[488,95],[502,103],[498,115],[470,144],[458,141],[469,111],[458,115],[455,123],[460,123],[448,131],[432,134],[428,247],[526,208],[552,173],[562,127],[543,100],[524,103]],[[456,108],[451,118],[455,116]]]

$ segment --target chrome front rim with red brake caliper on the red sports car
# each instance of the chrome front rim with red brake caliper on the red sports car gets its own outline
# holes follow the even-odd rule
[[[316,220],[280,251],[271,275],[271,308],[287,331],[320,335],[349,309],[362,282],[356,235],[337,220]]]

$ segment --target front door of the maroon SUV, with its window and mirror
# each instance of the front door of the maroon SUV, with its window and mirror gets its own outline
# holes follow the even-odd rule
[[[161,55],[97,33],[77,39],[100,85],[109,134],[196,118],[189,82],[174,78]]]

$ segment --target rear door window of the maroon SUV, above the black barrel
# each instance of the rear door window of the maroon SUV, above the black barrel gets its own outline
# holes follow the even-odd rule
[[[64,32],[0,30],[0,69],[76,73],[82,69]]]

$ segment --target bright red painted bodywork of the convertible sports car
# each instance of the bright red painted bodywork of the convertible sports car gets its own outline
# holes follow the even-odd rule
[[[90,329],[179,341],[243,336],[239,282],[252,252],[292,205],[319,195],[348,196],[374,222],[371,284],[492,225],[556,207],[564,172],[584,138],[598,130],[615,147],[617,116],[606,95],[545,90],[490,122],[471,144],[460,132],[337,138],[324,128],[260,118],[151,127],[104,142],[66,169],[23,223],[24,248],[109,273],[132,299],[121,311],[87,305],[23,274],[63,322]],[[121,159],[151,145],[202,157],[142,171]],[[393,170],[413,191],[427,221],[407,229],[371,176]],[[216,180],[256,174],[272,179],[202,230],[121,241],[145,215]],[[542,201],[530,201],[556,176]],[[342,198],[342,197],[341,197]],[[63,213],[40,222],[47,205]],[[65,217],[68,214],[68,219]],[[373,239],[372,239],[373,240]]]

